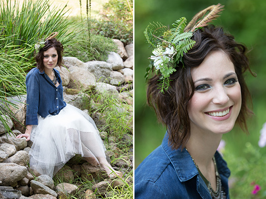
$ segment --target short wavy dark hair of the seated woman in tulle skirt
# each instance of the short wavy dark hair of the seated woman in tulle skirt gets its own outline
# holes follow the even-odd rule
[[[45,42],[45,46],[40,49],[40,51],[35,55],[35,60],[37,64],[37,68],[43,72],[44,71],[44,64],[43,64],[43,58],[44,58],[44,51],[48,50],[51,47],[54,47],[56,49],[58,59],[57,59],[57,65],[62,66],[64,64],[64,60],[62,57],[62,53],[64,51],[64,47],[61,44],[61,42],[57,41],[55,38],[49,39]]]

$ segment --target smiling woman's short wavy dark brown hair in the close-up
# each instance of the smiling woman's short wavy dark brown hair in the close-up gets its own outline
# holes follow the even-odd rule
[[[191,77],[191,68],[199,66],[206,56],[216,50],[225,52],[233,62],[235,73],[241,86],[242,105],[236,123],[248,132],[246,119],[252,111],[247,106],[251,96],[245,83],[243,73],[249,71],[249,60],[246,56],[247,47],[237,43],[233,35],[225,33],[222,28],[209,25],[194,32],[192,39],[196,44],[183,55],[183,63],[169,77],[170,86],[164,93],[160,92],[159,76],[155,75],[148,81],[147,103],[153,107],[157,119],[166,125],[169,143],[173,149],[183,149],[190,138],[190,119],[188,102],[195,88]]]

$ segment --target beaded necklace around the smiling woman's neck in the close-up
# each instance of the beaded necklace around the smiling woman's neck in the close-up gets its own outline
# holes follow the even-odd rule
[[[186,148],[185,148],[186,149]],[[186,149],[187,151],[187,149]],[[188,152],[188,151],[187,151]],[[189,153],[189,152],[188,152]],[[189,153],[190,155],[190,153]],[[196,168],[199,171],[200,177],[203,179],[204,183],[207,185],[209,192],[211,194],[211,197],[213,199],[226,199],[226,193],[224,191],[224,188],[222,187],[222,182],[221,182],[221,177],[218,173],[217,165],[216,165],[216,160],[215,157],[213,157],[214,165],[215,165],[215,174],[216,174],[216,191],[213,189],[211,183],[203,176],[203,174],[200,172],[200,168],[198,165],[195,163],[194,158],[190,155],[192,158]]]

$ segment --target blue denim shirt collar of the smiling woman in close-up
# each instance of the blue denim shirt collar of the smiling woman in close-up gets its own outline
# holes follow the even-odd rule
[[[199,174],[190,154],[185,149],[181,151],[181,149],[173,150],[171,148],[171,146],[168,144],[167,132],[162,142],[162,148],[173,164],[177,176],[181,182],[190,180]],[[222,159],[221,155],[217,151],[215,153],[215,158],[216,162],[218,163],[217,169],[219,174],[222,174],[228,178],[230,176],[230,170],[227,167],[226,162]]]

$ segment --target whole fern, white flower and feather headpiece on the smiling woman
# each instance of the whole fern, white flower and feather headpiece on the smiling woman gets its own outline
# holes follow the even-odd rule
[[[145,79],[147,80],[150,72],[155,69],[160,77],[159,89],[165,92],[169,87],[170,75],[176,71],[175,67],[179,62],[183,63],[183,53],[187,53],[196,43],[191,39],[193,33],[216,19],[223,7],[221,4],[209,6],[196,14],[187,26],[185,17],[176,20],[172,24],[172,29],[158,22],[150,23],[144,35],[154,50],[150,56],[152,61],[146,69]]]

